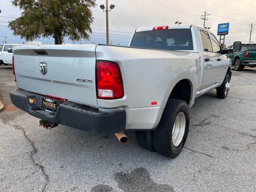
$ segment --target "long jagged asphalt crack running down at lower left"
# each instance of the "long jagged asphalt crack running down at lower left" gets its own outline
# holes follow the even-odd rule
[[[6,124],[6,123],[5,123]],[[6,124],[6,125],[9,125],[9,124]],[[24,128],[20,127],[20,126],[17,126],[17,125],[9,125],[9,126],[14,126],[14,128],[16,130],[21,130],[25,139],[28,141],[28,143],[30,144],[30,146],[32,147],[32,151],[30,152],[30,159],[32,160],[34,166],[40,168],[40,170],[42,171],[42,174],[44,175],[44,178],[46,179],[46,183],[44,185],[44,188],[42,189],[42,192],[44,192],[48,182],[49,182],[49,176],[46,174],[46,171],[44,169],[44,166],[42,166],[41,164],[38,164],[36,163],[36,161],[34,160],[34,154],[36,154],[38,152],[35,144],[34,144],[34,141],[32,141],[30,138],[28,138],[28,135],[26,134],[26,130],[24,130]]]

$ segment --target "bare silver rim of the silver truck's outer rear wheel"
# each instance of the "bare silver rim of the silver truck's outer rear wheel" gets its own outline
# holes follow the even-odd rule
[[[180,112],[175,119],[172,128],[172,144],[177,147],[182,142],[186,128],[186,117],[183,112]]]

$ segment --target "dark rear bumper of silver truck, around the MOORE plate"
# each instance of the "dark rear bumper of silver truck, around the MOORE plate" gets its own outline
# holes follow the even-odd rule
[[[10,98],[14,106],[36,118],[94,134],[120,133],[124,131],[126,126],[126,112],[124,110],[103,112],[86,105],[57,100],[57,112],[50,113],[42,109],[42,96],[39,94],[12,90],[10,91]],[[29,98],[36,98],[36,104],[30,104]]]

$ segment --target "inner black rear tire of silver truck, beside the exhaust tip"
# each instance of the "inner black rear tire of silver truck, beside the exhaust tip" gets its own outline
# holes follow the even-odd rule
[[[153,142],[153,131],[136,131],[135,134],[139,146],[146,150],[156,151]]]

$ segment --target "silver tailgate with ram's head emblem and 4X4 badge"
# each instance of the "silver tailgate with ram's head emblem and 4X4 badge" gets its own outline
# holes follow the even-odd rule
[[[95,48],[95,45],[17,46],[13,50],[17,87],[97,107]]]

